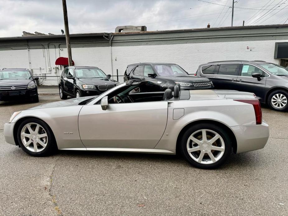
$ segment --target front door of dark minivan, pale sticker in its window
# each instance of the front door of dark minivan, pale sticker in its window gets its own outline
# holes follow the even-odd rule
[[[260,73],[262,77],[261,80],[258,81],[257,78],[252,77],[253,73]],[[262,101],[265,96],[267,76],[267,73],[254,65],[242,64],[240,74],[236,81],[236,90],[242,92],[253,92],[260,99],[260,101]]]

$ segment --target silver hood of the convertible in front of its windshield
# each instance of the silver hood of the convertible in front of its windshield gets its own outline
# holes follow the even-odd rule
[[[65,106],[77,106],[79,103],[81,103],[87,99],[91,99],[91,98],[95,98],[95,97],[97,97],[97,96],[87,96],[87,97],[79,97],[79,98],[72,98],[72,99],[68,99],[68,100],[56,101],[56,102],[51,102],[48,104],[42,104],[39,106],[35,106],[35,107],[32,107],[28,110],[44,109],[44,108],[56,108],[56,107],[65,107]]]

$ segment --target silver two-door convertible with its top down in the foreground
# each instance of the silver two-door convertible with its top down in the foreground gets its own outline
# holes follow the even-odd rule
[[[129,80],[99,96],[52,102],[15,112],[4,125],[8,143],[32,156],[58,149],[176,154],[215,168],[231,152],[263,148],[269,137],[258,99],[248,92],[165,92]]]

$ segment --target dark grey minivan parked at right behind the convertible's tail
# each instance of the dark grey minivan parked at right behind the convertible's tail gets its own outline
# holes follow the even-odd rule
[[[201,64],[197,77],[212,80],[216,89],[253,92],[272,110],[288,110],[288,69],[264,61],[220,61]]]

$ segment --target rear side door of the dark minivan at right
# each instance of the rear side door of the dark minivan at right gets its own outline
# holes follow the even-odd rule
[[[240,63],[220,64],[218,73],[213,74],[211,80],[215,89],[236,90],[236,81],[240,69]],[[207,77],[209,78],[209,77]]]

